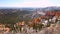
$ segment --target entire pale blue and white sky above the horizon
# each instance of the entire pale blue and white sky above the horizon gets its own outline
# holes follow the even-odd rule
[[[0,0],[0,7],[60,6],[60,0]]]

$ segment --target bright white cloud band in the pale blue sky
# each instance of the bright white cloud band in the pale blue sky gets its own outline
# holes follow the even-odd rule
[[[47,7],[47,6],[59,6],[54,5],[48,0],[24,0],[23,3],[13,3],[13,4],[0,4],[2,7]]]

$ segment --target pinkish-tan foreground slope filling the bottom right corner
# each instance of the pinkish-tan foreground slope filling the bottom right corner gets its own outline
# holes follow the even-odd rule
[[[40,31],[42,34],[60,34],[60,25],[51,24],[50,27]]]

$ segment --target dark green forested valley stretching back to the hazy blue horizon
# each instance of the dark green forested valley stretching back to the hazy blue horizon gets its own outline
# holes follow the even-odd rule
[[[46,13],[57,12],[60,14],[60,7],[47,7],[47,8],[0,8],[0,23],[14,24],[22,20],[31,19],[31,15],[36,11],[43,11]],[[27,17],[25,17],[27,15]]]

